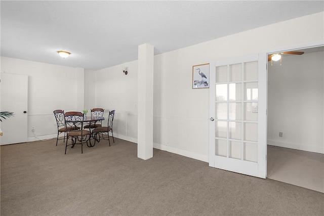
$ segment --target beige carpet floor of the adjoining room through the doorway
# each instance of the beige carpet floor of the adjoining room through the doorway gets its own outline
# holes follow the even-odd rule
[[[268,146],[267,169],[269,179],[324,193],[323,154]]]

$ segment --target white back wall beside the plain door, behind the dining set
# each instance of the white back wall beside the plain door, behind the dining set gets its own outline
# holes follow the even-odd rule
[[[57,134],[53,111],[82,111],[84,69],[1,57],[1,72],[28,75],[28,141]],[[15,100],[15,98],[13,98]]]

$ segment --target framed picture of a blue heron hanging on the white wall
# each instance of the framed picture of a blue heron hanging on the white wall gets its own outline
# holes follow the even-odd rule
[[[209,88],[209,64],[192,66],[192,89]]]

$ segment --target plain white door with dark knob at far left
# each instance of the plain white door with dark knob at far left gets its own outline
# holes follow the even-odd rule
[[[14,116],[0,124],[3,136],[0,144],[27,142],[28,76],[1,73],[1,111],[14,112]]]

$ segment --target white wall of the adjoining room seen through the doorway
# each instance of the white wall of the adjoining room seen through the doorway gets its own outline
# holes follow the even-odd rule
[[[269,65],[269,145],[324,153],[323,65],[323,52],[284,56],[281,66]]]

